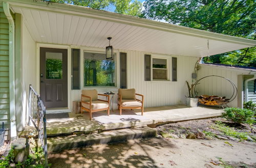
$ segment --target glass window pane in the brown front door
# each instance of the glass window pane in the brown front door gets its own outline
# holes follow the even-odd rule
[[[46,79],[62,78],[62,53],[46,52]]]

